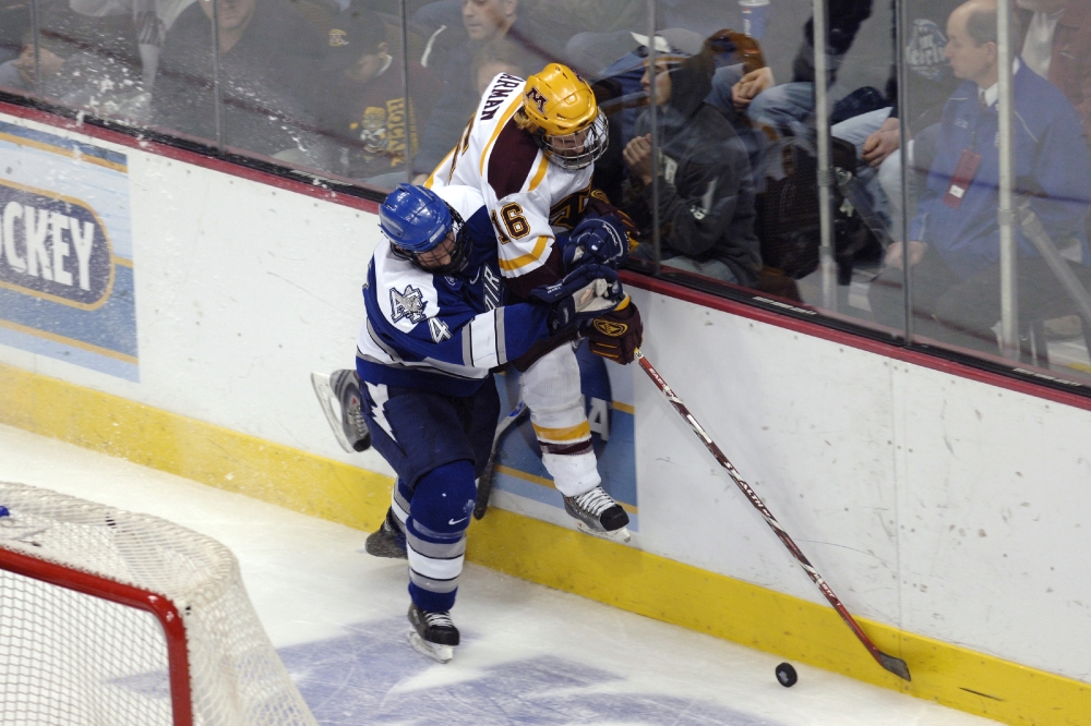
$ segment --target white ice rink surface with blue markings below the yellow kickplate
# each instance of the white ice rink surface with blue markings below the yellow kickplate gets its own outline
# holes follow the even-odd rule
[[[324,726],[995,723],[801,664],[786,689],[777,656],[472,564],[452,613],[463,645],[440,665],[406,645],[405,560],[358,553],[364,532],[5,426],[0,481],[163,517],[225,543]]]

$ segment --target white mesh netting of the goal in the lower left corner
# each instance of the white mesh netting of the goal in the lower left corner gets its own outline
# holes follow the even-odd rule
[[[0,517],[0,548],[173,603],[193,724],[315,724],[227,547],[156,517],[22,484],[0,482],[0,505],[11,512]],[[145,610],[0,569],[0,711],[4,726],[171,724],[164,629]]]

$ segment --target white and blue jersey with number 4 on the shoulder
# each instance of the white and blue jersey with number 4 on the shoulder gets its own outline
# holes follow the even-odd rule
[[[495,230],[481,194],[468,186],[434,191],[466,222],[469,262],[457,275],[433,275],[381,244],[363,286],[357,372],[375,385],[471,396],[493,368],[548,337],[549,308],[504,305]]]

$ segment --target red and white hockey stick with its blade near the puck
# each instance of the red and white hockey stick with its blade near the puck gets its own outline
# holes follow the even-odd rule
[[[867,652],[872,654],[872,657],[875,658],[875,661],[880,666],[883,666],[894,675],[900,678],[904,678],[906,680],[911,680],[909,676],[909,666],[906,665],[906,662],[902,661],[901,658],[896,658],[892,655],[887,655],[878,648],[876,648],[875,643],[873,643],[871,639],[866,634],[864,634],[864,631],[861,630],[859,625],[856,625],[856,621],[852,618],[852,615],[849,614],[849,610],[846,609],[844,605],[841,604],[841,601],[838,600],[837,595],[834,594],[834,591],[830,589],[828,584],[826,584],[826,581],[822,578],[820,574],[818,574],[818,571],[814,568],[814,566],[806,558],[806,556],[799,548],[799,546],[794,542],[792,542],[792,537],[788,535],[788,532],[784,531],[784,528],[782,528],[780,525],[780,522],[778,522],[777,519],[772,516],[772,513],[769,511],[769,508],[765,506],[765,503],[762,501],[760,497],[758,497],[757,494],[755,494],[754,489],[751,488],[750,484],[743,481],[743,477],[739,474],[739,471],[734,468],[734,465],[732,465],[730,461],[728,461],[728,458],[723,456],[723,452],[720,451],[720,447],[718,447],[716,445],[716,441],[714,441],[711,437],[709,437],[709,435],[705,433],[705,429],[702,428],[700,424],[697,423],[697,420],[693,418],[693,414],[690,413],[690,409],[685,407],[685,403],[682,402],[682,399],[680,399],[674,394],[674,391],[671,390],[671,387],[667,385],[667,382],[663,380],[662,376],[659,375],[659,372],[656,371],[656,368],[651,365],[651,363],[648,362],[648,359],[644,356],[644,353],[642,353],[639,349],[636,350],[635,358],[637,361],[640,362],[640,367],[644,368],[644,372],[648,374],[648,377],[651,378],[651,382],[656,384],[656,387],[659,388],[659,390],[663,392],[663,396],[667,397],[667,400],[671,402],[671,406],[674,407],[674,410],[678,411],[679,414],[686,420],[686,423],[688,423],[690,427],[693,428],[693,433],[695,433],[697,437],[702,440],[702,443],[705,445],[705,448],[707,448],[716,458],[716,460],[720,463],[720,465],[727,470],[728,475],[731,476],[731,481],[733,481],[735,485],[740,489],[742,489],[742,493],[745,494],[746,498],[751,500],[751,504],[754,505],[754,508],[757,509],[759,512],[762,512],[762,517],[765,518],[766,524],[768,524],[772,529],[774,533],[778,537],[780,537],[780,541],[784,543],[786,547],[788,547],[788,550],[792,553],[795,559],[800,561],[800,565],[803,566],[803,569],[806,570],[807,574],[811,576],[811,579],[814,580],[814,583],[818,585],[819,590],[822,590],[822,594],[826,595],[826,600],[828,600],[829,604],[834,606],[834,609],[837,610],[837,614],[841,616],[841,619],[844,620],[844,624],[849,626],[849,628],[852,629],[852,632],[856,634],[856,638],[860,639],[860,642],[864,644],[864,648],[866,648]]]

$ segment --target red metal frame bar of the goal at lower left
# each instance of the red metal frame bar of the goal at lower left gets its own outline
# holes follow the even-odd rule
[[[154,615],[167,640],[167,662],[170,673],[170,706],[175,726],[193,725],[193,703],[190,689],[190,656],[185,648],[185,625],[175,604],[163,595],[121,584],[113,580],[47,562],[29,555],[0,547],[0,569],[23,577],[120,605],[128,605]]]

